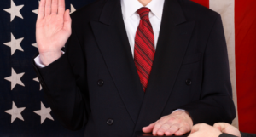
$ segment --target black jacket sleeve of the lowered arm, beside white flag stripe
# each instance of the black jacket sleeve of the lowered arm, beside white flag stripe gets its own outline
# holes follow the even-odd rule
[[[219,14],[207,40],[202,73],[200,100],[179,108],[189,112],[194,124],[231,123],[236,117],[236,111],[232,100],[224,28]]]

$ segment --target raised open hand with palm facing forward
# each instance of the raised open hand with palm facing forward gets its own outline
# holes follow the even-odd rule
[[[71,35],[69,10],[65,0],[41,0],[38,9],[36,38],[40,60],[47,66],[61,57],[61,48]]]

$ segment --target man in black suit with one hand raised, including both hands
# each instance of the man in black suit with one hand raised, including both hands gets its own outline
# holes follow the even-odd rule
[[[71,18],[41,0],[36,35],[46,100],[85,136],[182,135],[236,115],[220,15],[189,0],[98,0]]]

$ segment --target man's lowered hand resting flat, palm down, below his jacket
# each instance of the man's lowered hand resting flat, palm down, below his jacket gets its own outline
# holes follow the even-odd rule
[[[151,123],[148,127],[144,127],[143,132],[152,132],[157,136],[183,135],[188,133],[192,126],[193,121],[186,111],[174,111],[170,115],[161,117],[155,123]]]

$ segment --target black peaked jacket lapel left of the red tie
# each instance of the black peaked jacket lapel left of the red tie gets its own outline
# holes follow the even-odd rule
[[[119,95],[136,123],[144,92],[132,58],[119,0],[108,0],[99,22],[91,21],[90,24]]]

